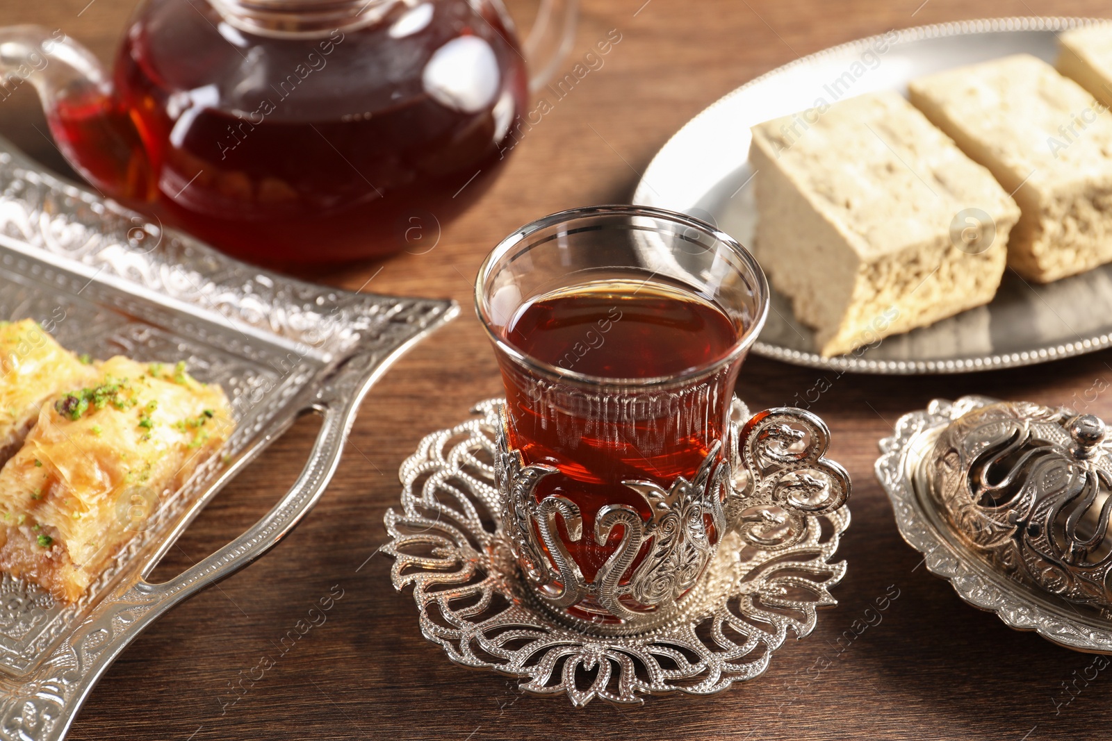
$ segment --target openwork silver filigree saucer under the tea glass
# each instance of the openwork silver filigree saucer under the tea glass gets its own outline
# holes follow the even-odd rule
[[[535,602],[503,530],[500,403],[483,402],[478,418],[421,440],[401,465],[401,508],[385,518],[394,587],[413,587],[421,633],[451,661],[518,677],[532,694],[566,693],[577,707],[712,694],[759,675],[788,631],[805,638],[817,608],[836,604],[830,589],[845,562],[832,559],[850,525],[844,505],[800,517],[792,543],[775,551],[728,532],[679,613],[644,632],[588,634],[562,624]],[[748,418],[735,407],[735,420]],[[735,470],[744,484],[744,467]]]

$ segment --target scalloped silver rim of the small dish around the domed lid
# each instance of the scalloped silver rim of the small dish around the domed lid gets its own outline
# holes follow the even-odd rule
[[[925,463],[939,435],[962,414],[996,401],[963,397],[935,399],[926,409],[904,414],[895,434],[881,440],[876,478],[887,492],[900,534],[923,554],[927,570],[942,577],[975,608],[996,613],[1016,630],[1033,630],[1075,651],[1112,653],[1112,615],[1074,605],[994,569],[949,527],[934,505]]]

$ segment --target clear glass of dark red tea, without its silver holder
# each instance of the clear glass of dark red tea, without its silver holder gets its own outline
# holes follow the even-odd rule
[[[586,582],[626,535],[615,527],[589,537],[600,513],[624,505],[646,522],[653,517],[629,482],[668,490],[725,457],[734,383],[766,294],[759,268],[734,240],[636,207],[548,217],[484,263],[477,307],[505,381],[508,444],[527,465],[555,467],[534,497],[555,494],[577,508],[579,537],[565,519],[554,524]],[[716,545],[719,533],[701,517]],[[652,547],[641,547],[623,579]],[[654,609],[628,597],[624,604]],[[592,622],[622,621],[589,592],[565,609]]]

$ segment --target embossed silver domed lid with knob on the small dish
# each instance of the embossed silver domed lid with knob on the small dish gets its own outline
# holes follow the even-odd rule
[[[975,407],[923,464],[946,524],[1009,578],[1112,608],[1112,450],[1093,414],[1027,401]]]

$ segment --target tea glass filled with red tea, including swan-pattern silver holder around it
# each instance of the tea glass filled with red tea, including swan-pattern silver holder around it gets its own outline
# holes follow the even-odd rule
[[[697,219],[604,206],[520,228],[475,291],[526,581],[573,623],[667,619],[724,534],[733,389],[768,309],[759,266]]]

